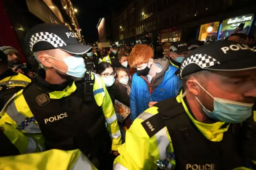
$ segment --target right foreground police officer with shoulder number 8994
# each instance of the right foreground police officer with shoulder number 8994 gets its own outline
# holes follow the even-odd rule
[[[244,44],[213,42],[188,54],[180,73],[180,95],[135,119],[114,170],[249,170],[243,166],[254,165],[255,133],[244,152],[240,126],[256,99],[255,55]]]

